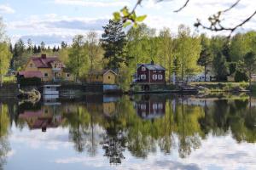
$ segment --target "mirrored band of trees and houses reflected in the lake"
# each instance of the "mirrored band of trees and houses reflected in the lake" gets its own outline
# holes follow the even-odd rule
[[[109,97],[87,95],[28,103],[3,102],[0,112],[0,164],[9,148],[9,127],[67,128],[74,150],[108,158],[110,164],[125,161],[125,152],[147,159],[158,152],[172,155],[177,150],[186,158],[201,148],[207,135],[231,133],[238,143],[256,141],[256,102],[238,99],[195,98],[167,95]],[[12,122],[15,122],[13,124]],[[211,148],[209,148],[211,150]],[[4,160],[4,159],[3,159]],[[4,162],[4,161],[3,161]]]

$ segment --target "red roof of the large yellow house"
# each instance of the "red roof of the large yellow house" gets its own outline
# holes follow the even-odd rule
[[[57,57],[32,57],[32,61],[38,68],[51,68],[52,66],[50,63],[54,61],[60,61]],[[61,67],[64,67],[64,65],[61,64]]]

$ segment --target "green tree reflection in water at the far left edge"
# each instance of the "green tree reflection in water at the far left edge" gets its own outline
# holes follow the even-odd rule
[[[8,141],[9,122],[8,106],[0,103],[0,169],[3,169],[6,156],[10,150]]]

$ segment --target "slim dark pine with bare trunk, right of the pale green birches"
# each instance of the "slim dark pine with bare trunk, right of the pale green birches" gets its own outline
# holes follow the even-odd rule
[[[207,82],[207,66],[212,63],[212,54],[210,51],[210,42],[207,39],[207,37],[202,34],[201,35],[201,53],[200,57],[197,60],[197,64],[204,67],[204,73],[205,73],[205,82]]]

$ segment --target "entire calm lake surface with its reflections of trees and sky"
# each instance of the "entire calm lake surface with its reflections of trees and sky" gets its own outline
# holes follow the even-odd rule
[[[256,169],[256,99],[0,99],[0,168]]]

